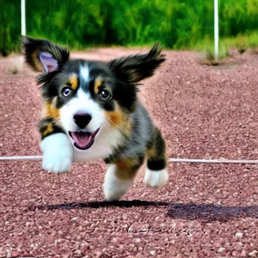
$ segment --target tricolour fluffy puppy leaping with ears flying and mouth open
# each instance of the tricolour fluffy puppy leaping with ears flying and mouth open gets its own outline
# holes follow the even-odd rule
[[[109,201],[130,189],[145,158],[144,182],[161,187],[168,181],[165,141],[137,97],[139,82],[165,61],[158,43],[146,54],[110,61],[71,59],[68,49],[25,36],[22,49],[29,66],[41,72],[44,170],[67,172],[73,162],[104,159]]]

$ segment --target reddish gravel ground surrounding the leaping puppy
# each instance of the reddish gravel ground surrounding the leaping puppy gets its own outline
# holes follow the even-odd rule
[[[258,56],[245,53],[229,67],[201,66],[192,52],[167,58],[140,95],[169,156],[257,159]],[[41,155],[35,74],[10,74],[14,60],[0,59],[0,155]],[[257,165],[173,163],[160,190],[143,184],[142,168],[117,203],[104,200],[105,170],[90,162],[55,175],[40,162],[0,162],[0,247],[10,244],[14,257],[257,256]]]

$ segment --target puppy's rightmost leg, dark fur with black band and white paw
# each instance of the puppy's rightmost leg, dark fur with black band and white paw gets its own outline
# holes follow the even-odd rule
[[[147,169],[144,183],[152,187],[162,187],[168,181],[166,144],[157,127],[153,127],[152,137],[147,145]]]

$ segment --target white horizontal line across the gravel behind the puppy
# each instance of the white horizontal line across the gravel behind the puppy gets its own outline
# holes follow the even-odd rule
[[[39,161],[42,160],[42,156],[4,156],[0,157],[2,160],[30,160]],[[181,163],[231,163],[231,164],[258,164],[258,160],[232,160],[232,159],[168,159],[168,162],[181,162]]]

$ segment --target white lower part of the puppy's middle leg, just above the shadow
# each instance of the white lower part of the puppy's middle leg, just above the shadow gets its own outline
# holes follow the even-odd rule
[[[108,201],[118,201],[132,186],[134,180],[121,180],[115,175],[115,165],[111,165],[103,183],[104,195]]]

